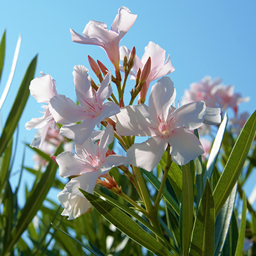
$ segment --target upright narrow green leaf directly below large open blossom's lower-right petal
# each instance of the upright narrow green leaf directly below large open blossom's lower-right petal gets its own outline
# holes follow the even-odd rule
[[[189,163],[182,166],[182,196],[180,204],[180,241],[183,255],[188,255],[194,223],[194,183]]]

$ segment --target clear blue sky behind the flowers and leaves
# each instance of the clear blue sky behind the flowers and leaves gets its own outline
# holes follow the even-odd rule
[[[6,63],[0,93],[10,72],[15,44],[22,35],[20,56],[15,78],[4,104],[2,121],[17,93],[29,62],[38,54],[36,76],[40,71],[57,82],[58,93],[75,98],[72,69],[74,65],[89,68],[87,55],[109,65],[105,52],[94,45],[72,42],[69,29],[82,33],[89,20],[105,22],[108,28],[118,8],[127,6],[138,14],[134,26],[121,44],[136,47],[142,56],[152,41],[170,54],[175,72],[169,76],[181,100],[189,84],[204,76],[221,77],[224,84],[234,84],[235,92],[250,96],[240,111],[255,109],[256,93],[256,1],[0,1],[0,35],[6,29]],[[92,71],[90,72],[92,74]],[[40,104],[30,97],[20,120],[20,140],[31,142],[35,132],[26,131],[24,124],[41,114]]]

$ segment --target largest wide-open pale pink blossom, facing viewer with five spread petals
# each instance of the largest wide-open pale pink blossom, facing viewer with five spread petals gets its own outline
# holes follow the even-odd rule
[[[206,115],[205,103],[191,102],[180,108],[172,106],[176,91],[170,77],[157,81],[148,106],[126,106],[116,115],[116,132],[124,136],[151,136],[127,150],[127,163],[152,171],[170,144],[172,160],[186,164],[204,153],[198,138],[189,130],[198,129]]]

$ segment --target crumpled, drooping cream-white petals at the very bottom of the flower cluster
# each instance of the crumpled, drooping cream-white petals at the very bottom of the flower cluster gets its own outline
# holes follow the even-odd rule
[[[63,191],[58,194],[58,199],[65,210],[61,215],[68,216],[68,220],[74,220],[82,214],[90,211],[92,205],[84,198],[78,188],[93,193],[99,172],[84,173],[79,177],[71,179]]]

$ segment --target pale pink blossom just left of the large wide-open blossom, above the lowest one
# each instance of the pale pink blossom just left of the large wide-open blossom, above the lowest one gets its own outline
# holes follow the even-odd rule
[[[92,134],[95,125],[99,125],[104,118],[118,113],[120,108],[114,102],[104,103],[112,93],[112,88],[109,86],[110,71],[97,92],[92,90],[87,68],[81,65],[75,66],[73,75],[80,106],[77,106],[65,95],[58,94],[50,100],[51,113],[56,122],[64,125],[60,129],[61,135],[76,141],[76,143],[83,144]],[[74,124],[79,121],[83,122]]]

